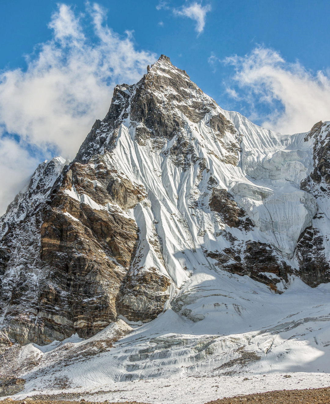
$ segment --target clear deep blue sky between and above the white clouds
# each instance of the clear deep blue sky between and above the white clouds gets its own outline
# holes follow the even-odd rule
[[[57,3],[53,0],[1,2],[1,69],[25,68],[23,55],[32,53],[36,44],[51,39],[47,24]],[[85,1],[61,3],[73,6],[76,13],[85,13]],[[214,72],[207,61],[212,52],[224,59],[233,54],[243,56],[256,44],[264,44],[278,50],[286,61],[298,59],[305,68],[315,72],[330,66],[328,1],[202,2],[202,6],[209,4],[211,11],[198,37],[194,21],[175,17],[171,12],[171,8],[180,8],[185,3],[169,1],[166,4],[169,9],[157,10],[159,1],[98,1],[106,8],[107,23],[115,32],[133,31],[136,49],[168,55],[173,64],[186,69],[205,93],[228,109],[238,106],[224,94],[223,82],[228,82],[232,69],[219,64]]]

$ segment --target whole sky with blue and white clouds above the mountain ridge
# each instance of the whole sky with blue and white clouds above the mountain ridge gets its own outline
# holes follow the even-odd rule
[[[117,82],[162,53],[225,109],[283,133],[330,119],[328,1],[0,3],[0,210],[73,158]]]

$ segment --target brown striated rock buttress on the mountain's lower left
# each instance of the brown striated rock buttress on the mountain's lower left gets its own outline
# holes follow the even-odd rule
[[[40,247],[32,244],[34,255],[22,263],[30,262],[32,273],[41,271],[42,277],[37,294],[31,293],[28,268],[6,287],[10,298],[3,332],[10,339],[43,345],[75,332],[89,337],[117,317],[116,295],[139,240],[135,221],[120,206],[131,208],[144,198],[142,188],[117,174],[106,156],[95,156],[87,165],[73,163],[47,202],[36,206],[33,227]],[[28,231],[31,217],[26,221]],[[21,248],[26,247],[22,241]],[[15,265],[17,257],[12,260]]]

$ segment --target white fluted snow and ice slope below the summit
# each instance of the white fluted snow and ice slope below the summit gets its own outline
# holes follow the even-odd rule
[[[182,71],[165,59],[152,66],[147,76],[152,80],[152,75],[169,76],[167,72],[188,81]],[[238,113],[224,111],[191,82],[189,85],[184,89],[188,99],[180,103],[171,102],[169,95],[178,94],[171,86],[161,94],[157,89],[150,90],[160,107],[170,104],[171,113],[180,117],[179,133],[171,139],[149,137],[139,143],[137,129],[143,123],[136,124],[131,118],[131,112],[127,113],[129,106],[122,110],[121,115],[126,118],[118,128],[111,160],[116,170],[146,189],[148,199],[133,214],[140,228],[148,228],[150,234],[146,234],[146,240],[155,233],[160,238],[165,268],[176,286],[187,280],[194,268],[212,266],[203,248],[230,247],[219,235],[222,230],[235,233],[239,240],[269,243],[281,259],[292,259],[301,232],[311,225],[317,211],[315,198],[300,190],[300,181],[311,170],[310,156],[292,148],[292,137],[283,139],[283,135],[260,128]],[[129,94],[128,105],[133,103],[138,86],[121,87]],[[208,105],[209,112],[199,122],[182,113],[183,105],[189,107],[191,100]],[[235,129],[228,121],[227,130],[217,133],[210,121],[219,114],[230,119]],[[101,127],[99,134],[106,137],[106,128]],[[305,134],[294,136],[303,139]],[[106,143],[100,148],[101,153],[107,149]],[[214,186],[235,195],[237,204],[254,223],[253,231],[246,234],[242,229],[228,229],[220,222],[218,214],[208,208]],[[144,257],[139,265],[150,260],[146,267],[153,262],[164,271],[152,253],[152,245],[143,248]],[[295,267],[292,262],[290,265]]]

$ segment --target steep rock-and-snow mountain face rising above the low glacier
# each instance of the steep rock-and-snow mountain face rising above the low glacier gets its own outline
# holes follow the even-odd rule
[[[225,111],[162,55],[2,216],[2,351],[164,310],[202,324],[224,275],[276,295],[329,282],[329,139],[330,122],[284,136]]]

